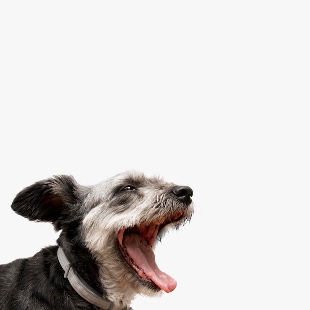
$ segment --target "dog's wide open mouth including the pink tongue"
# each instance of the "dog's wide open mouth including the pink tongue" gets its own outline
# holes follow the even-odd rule
[[[142,224],[132,228],[123,228],[118,233],[120,252],[139,277],[169,293],[176,288],[176,281],[162,272],[155,261],[152,249],[158,233],[170,223],[178,222],[184,212],[152,224]]]

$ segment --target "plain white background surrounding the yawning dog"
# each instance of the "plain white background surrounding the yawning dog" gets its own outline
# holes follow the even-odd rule
[[[1,1],[0,263],[54,244],[10,209],[59,173],[191,186],[134,310],[310,308],[308,1]]]

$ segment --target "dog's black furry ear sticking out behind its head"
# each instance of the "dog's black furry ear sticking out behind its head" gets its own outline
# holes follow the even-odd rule
[[[11,205],[12,209],[31,221],[52,222],[61,228],[61,220],[77,203],[78,184],[72,176],[58,175],[23,189]]]

